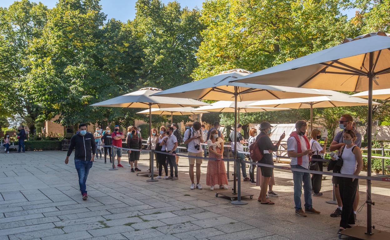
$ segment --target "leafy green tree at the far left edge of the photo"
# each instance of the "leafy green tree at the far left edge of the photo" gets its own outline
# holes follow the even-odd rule
[[[28,0],[0,7],[0,116],[21,116],[30,133],[39,121],[39,107],[24,88],[31,70],[29,47],[41,37],[46,14],[46,6]]]

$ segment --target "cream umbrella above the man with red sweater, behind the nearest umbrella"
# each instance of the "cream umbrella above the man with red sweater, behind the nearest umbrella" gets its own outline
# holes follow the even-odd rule
[[[352,97],[351,95],[332,90],[322,90],[328,96],[316,96],[308,98],[289,98],[279,100],[261,100],[249,103],[248,107],[287,107],[290,109],[310,108],[310,132],[313,130],[313,108],[320,107],[347,107],[368,105],[368,100]],[[373,102],[374,104],[379,104]],[[210,107],[210,106],[205,106]]]

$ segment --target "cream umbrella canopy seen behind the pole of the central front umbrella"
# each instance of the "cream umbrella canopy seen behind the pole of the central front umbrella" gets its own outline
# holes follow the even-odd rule
[[[272,100],[274,101],[274,100]],[[238,112],[268,112],[278,110],[289,110],[289,108],[277,108],[277,107],[247,107],[247,105],[256,101],[244,101],[237,102]],[[196,109],[197,111],[208,111],[208,112],[234,112],[234,101],[218,101],[211,103],[209,106],[202,106]]]

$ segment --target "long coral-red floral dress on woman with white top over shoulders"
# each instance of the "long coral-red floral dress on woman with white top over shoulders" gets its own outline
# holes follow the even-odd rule
[[[221,149],[219,147],[216,147],[216,152],[221,153]],[[210,158],[219,158],[211,151],[209,151],[209,156]],[[221,158],[223,158],[223,156]],[[227,185],[225,163],[224,161],[209,160],[207,163],[206,185],[214,186],[216,184]]]

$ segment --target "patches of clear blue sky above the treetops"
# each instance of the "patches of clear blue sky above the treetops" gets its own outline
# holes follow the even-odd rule
[[[49,8],[55,7],[57,0],[30,0],[32,2],[42,2],[44,5]],[[0,7],[8,7],[14,2],[14,0],[0,0]],[[103,12],[107,14],[107,19],[115,18],[121,21],[127,21],[128,19],[134,19],[135,17],[135,2],[137,0],[101,0],[100,4],[102,5]],[[164,4],[172,2],[172,0],[161,0]],[[202,2],[204,0],[177,0],[180,3],[181,7],[195,8],[198,7],[202,9]],[[348,18],[355,16],[354,9],[348,11],[342,11],[344,14],[347,14]]]

